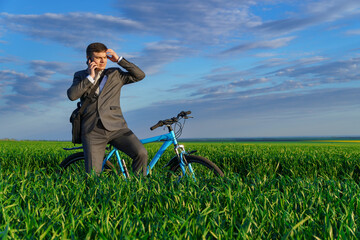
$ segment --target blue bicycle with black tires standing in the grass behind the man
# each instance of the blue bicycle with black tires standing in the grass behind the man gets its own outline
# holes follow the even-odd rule
[[[209,174],[212,172],[216,176],[224,176],[224,173],[221,171],[221,169],[216,166],[215,163],[211,162],[209,159],[192,155],[196,150],[187,152],[185,151],[184,145],[180,145],[177,141],[177,139],[180,137],[185,120],[192,118],[191,116],[188,116],[191,114],[191,111],[182,111],[180,112],[176,117],[160,120],[157,124],[150,127],[150,130],[155,130],[158,127],[166,126],[168,129],[167,134],[150,137],[146,139],[141,139],[142,144],[147,143],[153,143],[153,142],[164,142],[160,149],[157,151],[155,156],[150,161],[148,167],[147,167],[147,174],[150,173],[150,171],[154,168],[156,163],[159,161],[160,157],[163,155],[165,150],[170,146],[174,146],[175,156],[170,159],[170,161],[163,167],[163,168],[169,168],[170,174],[175,174],[175,176],[180,180],[184,176],[192,176],[192,178],[196,181],[195,174]],[[184,122],[181,123],[180,120],[183,119]],[[175,127],[179,127],[179,129],[175,132],[173,129],[173,125],[175,124]],[[64,150],[75,150],[75,149],[82,149],[82,147],[73,147],[73,148],[64,148]],[[130,174],[127,170],[126,164],[124,159],[120,157],[119,151],[116,148],[107,148],[110,152],[105,156],[103,164],[102,164],[102,171],[104,170],[111,170],[115,169],[115,166],[110,162],[110,159],[115,156],[117,163],[119,165],[120,173],[123,174],[123,176],[127,179],[130,178]],[[83,152],[77,152],[70,156],[68,156],[64,161],[60,163],[60,167],[63,169],[73,168],[74,171],[79,171],[77,168],[84,169],[84,153]],[[79,162],[82,163],[79,165]],[[115,169],[116,170],[116,169]]]

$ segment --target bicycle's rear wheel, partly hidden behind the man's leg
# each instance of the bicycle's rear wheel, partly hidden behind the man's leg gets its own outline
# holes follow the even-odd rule
[[[85,157],[84,152],[77,152],[71,154],[60,163],[60,167],[67,172],[84,172],[85,171]],[[106,161],[104,171],[109,172],[115,169],[110,161]]]

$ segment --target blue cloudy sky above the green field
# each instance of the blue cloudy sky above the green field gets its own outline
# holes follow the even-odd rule
[[[358,0],[0,0],[0,139],[71,138],[91,42],[146,73],[120,101],[140,138],[181,110],[186,138],[360,135],[359,19]]]

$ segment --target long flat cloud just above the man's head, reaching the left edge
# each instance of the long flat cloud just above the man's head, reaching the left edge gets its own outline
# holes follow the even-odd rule
[[[131,33],[142,29],[136,21],[92,13],[45,13],[16,15],[0,13],[0,23],[6,29],[21,32],[34,39],[50,39],[66,46],[83,48],[92,39],[119,38],[124,31]],[[99,31],[101,29],[101,31]]]

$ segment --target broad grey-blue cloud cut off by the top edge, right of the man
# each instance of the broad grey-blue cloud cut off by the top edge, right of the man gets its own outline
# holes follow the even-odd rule
[[[118,1],[125,15],[147,30],[188,44],[218,44],[260,24],[251,0]]]

